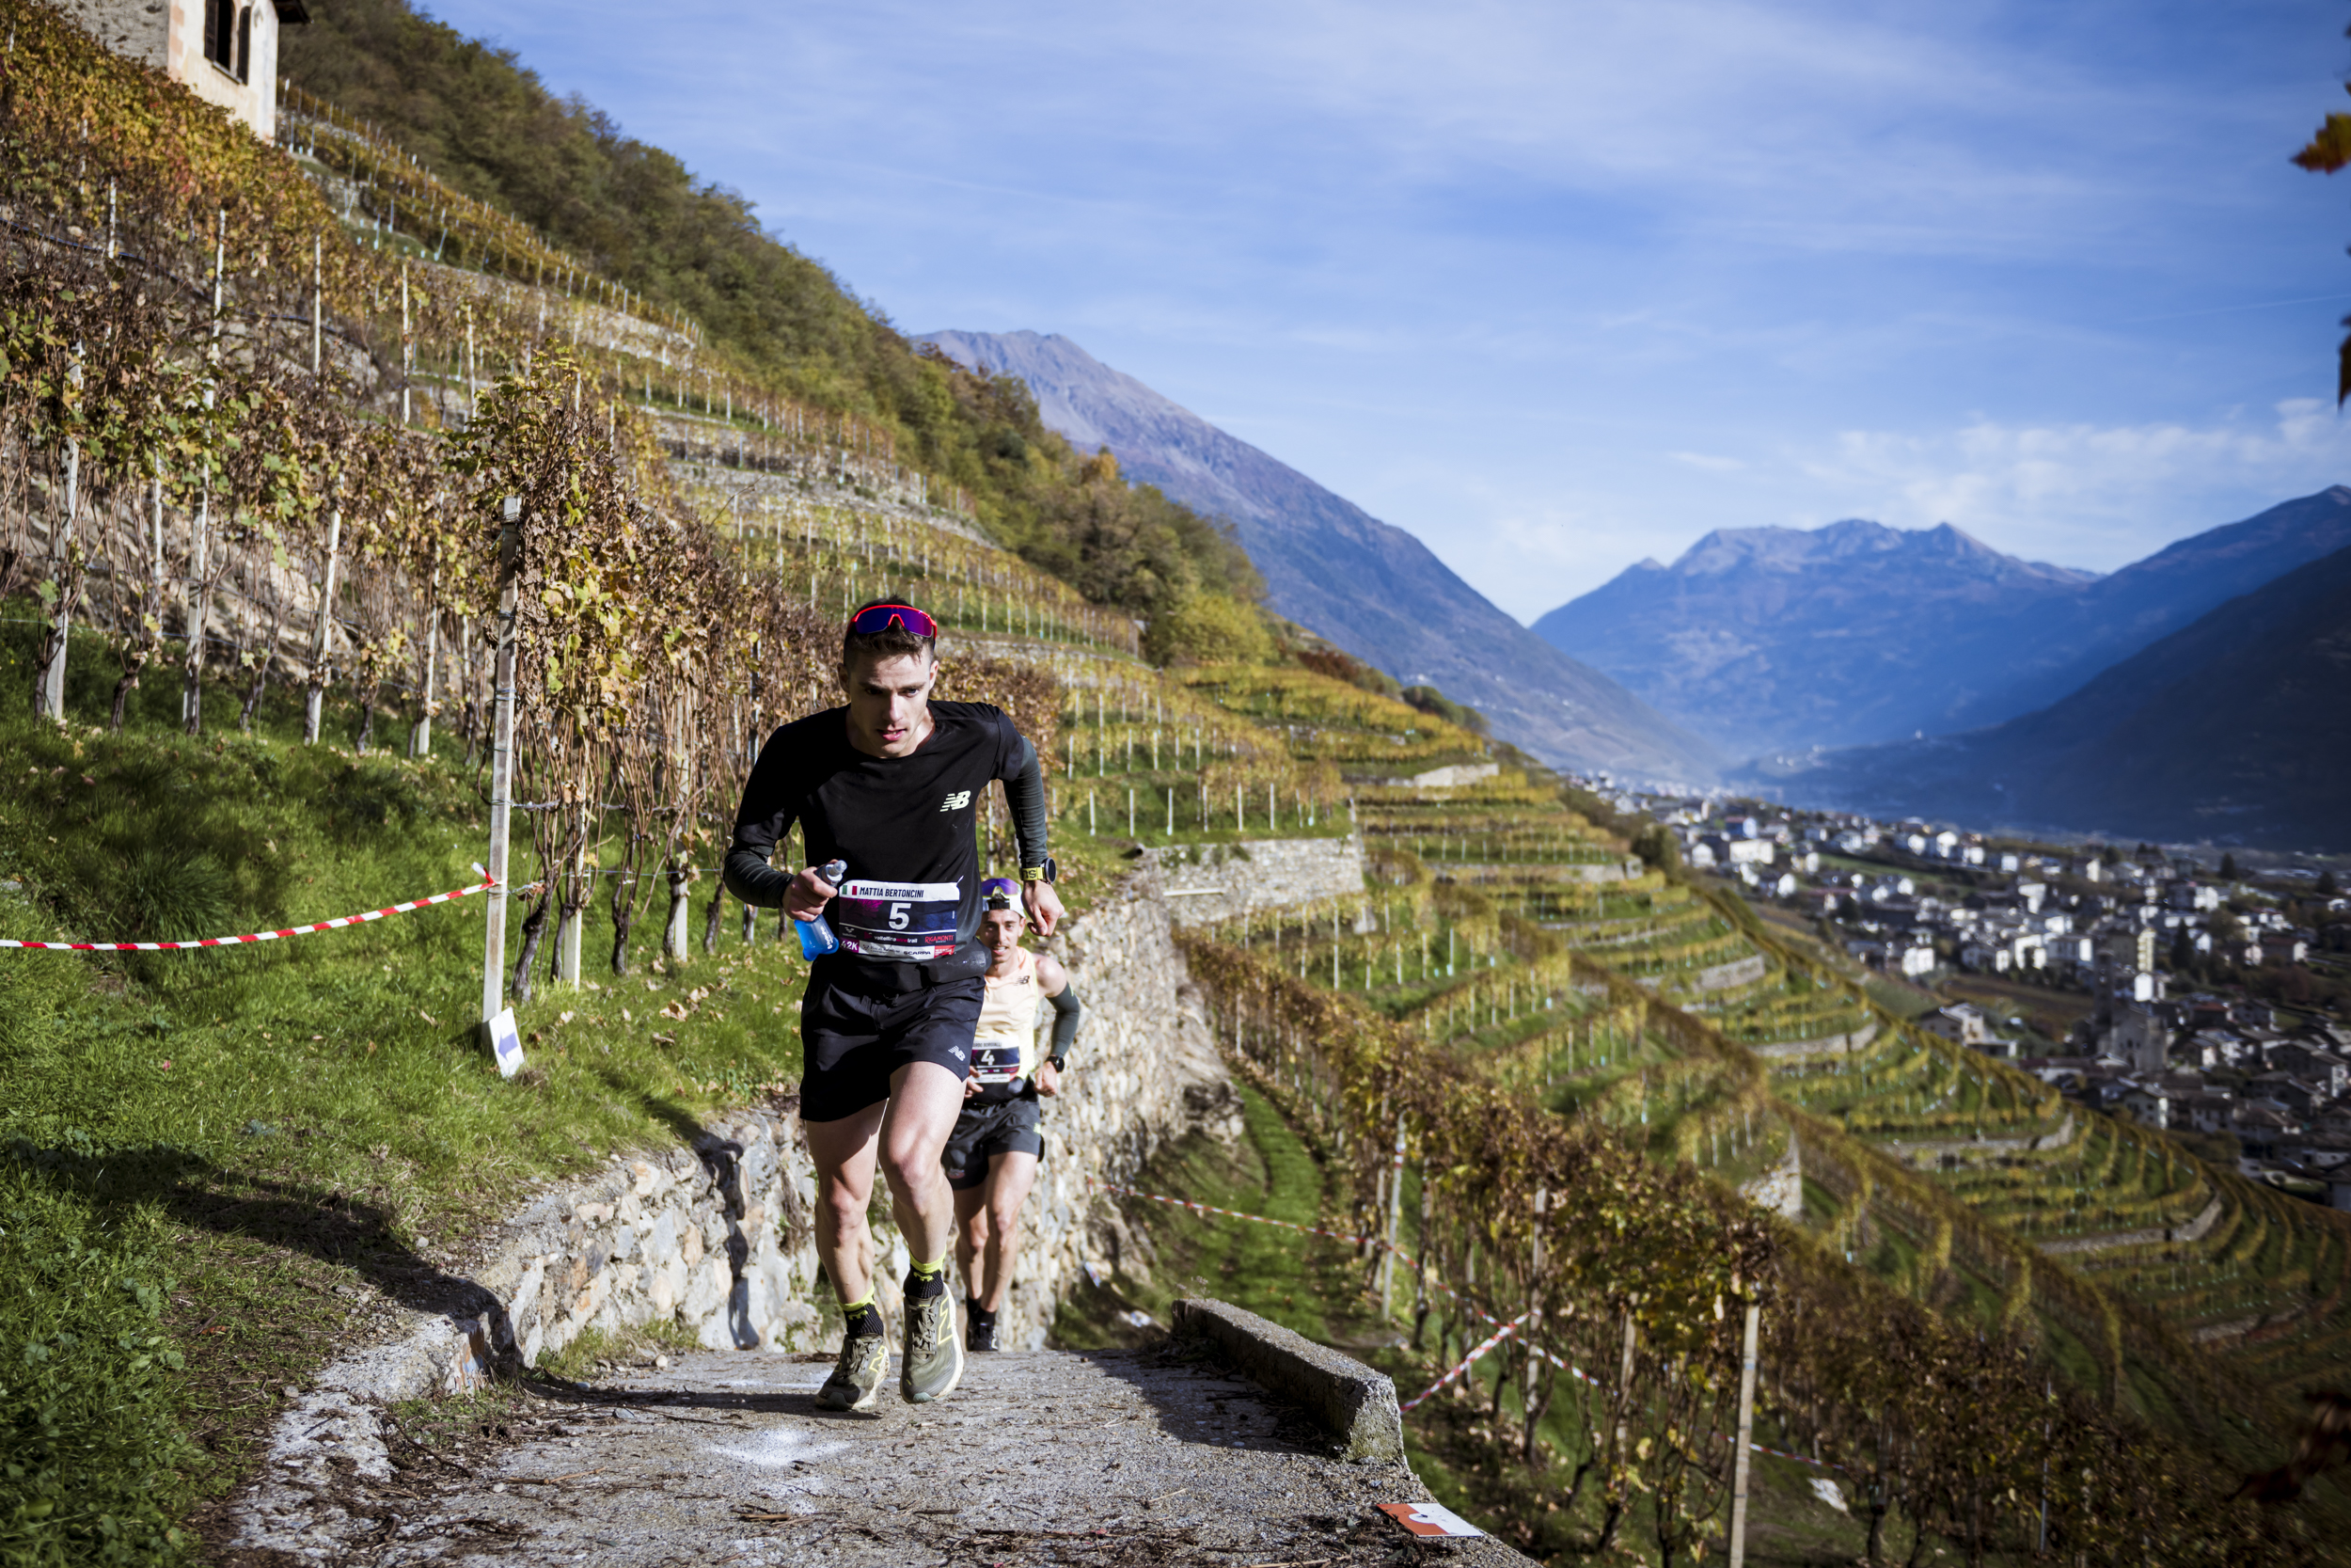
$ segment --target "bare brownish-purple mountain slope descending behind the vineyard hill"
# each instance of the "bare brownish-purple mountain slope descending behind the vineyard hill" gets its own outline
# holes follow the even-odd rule
[[[1232,522],[1272,607],[1406,684],[1479,708],[1561,766],[1707,783],[1721,755],[1488,604],[1418,538],[1225,435],[1065,336],[933,331],[962,364],[1018,376],[1044,423],[1119,470]]]

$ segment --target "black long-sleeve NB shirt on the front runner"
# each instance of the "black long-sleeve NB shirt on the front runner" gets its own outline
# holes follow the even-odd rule
[[[797,872],[769,858],[797,820],[811,865],[849,863],[830,910],[842,947],[891,961],[945,957],[980,929],[973,813],[999,778],[1020,863],[1044,865],[1044,771],[1002,708],[931,703],[931,733],[907,757],[853,748],[846,708],[795,719],[769,736],[743,785],[726,891],[783,905]]]

